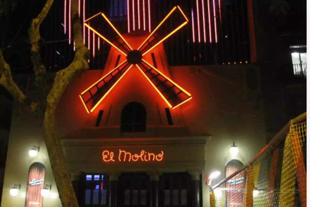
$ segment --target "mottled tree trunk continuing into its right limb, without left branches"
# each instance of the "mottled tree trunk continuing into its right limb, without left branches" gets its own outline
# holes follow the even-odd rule
[[[83,44],[82,25],[78,16],[78,0],[71,2],[73,33],[76,53],[73,62],[56,73],[53,87],[47,96],[46,111],[43,121],[44,140],[55,178],[57,190],[63,207],[76,207],[78,201],[73,190],[66,160],[56,128],[55,110],[65,88],[73,77],[89,68],[89,50]]]

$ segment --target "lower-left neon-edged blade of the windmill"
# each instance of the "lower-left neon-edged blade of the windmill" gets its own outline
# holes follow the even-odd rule
[[[91,113],[95,110],[131,67],[132,65],[127,61],[122,62],[80,94],[80,98],[87,113]]]

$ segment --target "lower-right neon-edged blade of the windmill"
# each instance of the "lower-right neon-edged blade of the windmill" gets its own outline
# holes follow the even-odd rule
[[[166,77],[148,62],[142,60],[140,64],[137,64],[137,67],[170,108],[174,109],[192,99],[190,93]]]

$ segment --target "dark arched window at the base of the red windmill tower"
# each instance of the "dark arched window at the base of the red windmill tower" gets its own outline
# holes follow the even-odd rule
[[[145,132],[146,109],[138,102],[127,103],[122,109],[121,132]]]

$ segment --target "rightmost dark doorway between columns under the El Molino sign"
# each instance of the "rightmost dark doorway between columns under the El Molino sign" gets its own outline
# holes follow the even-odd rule
[[[192,206],[191,176],[188,173],[163,173],[159,181],[159,206]]]

